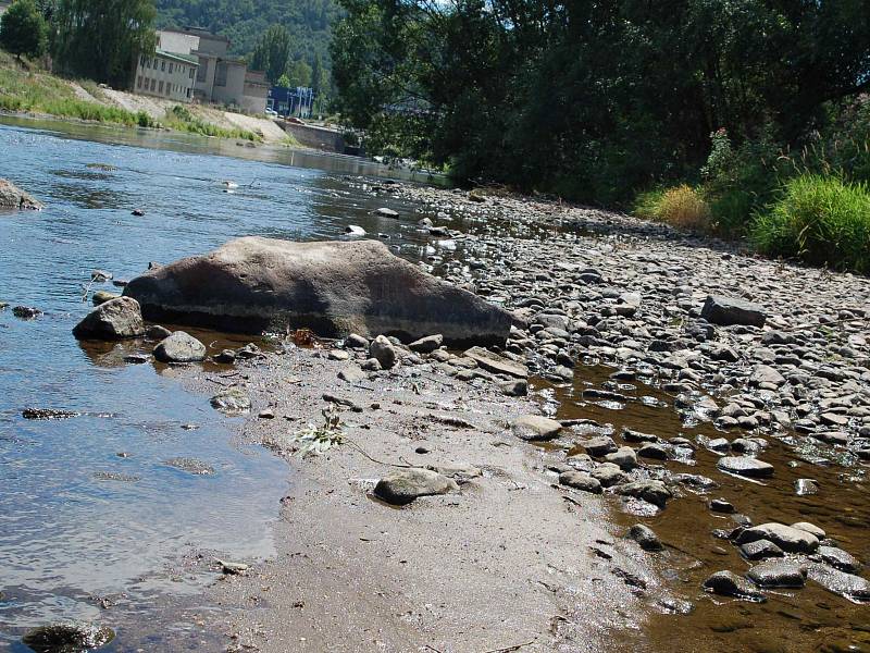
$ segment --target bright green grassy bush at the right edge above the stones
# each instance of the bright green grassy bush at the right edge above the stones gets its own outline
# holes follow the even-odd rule
[[[870,192],[863,183],[803,174],[757,214],[750,235],[770,256],[868,273]]]

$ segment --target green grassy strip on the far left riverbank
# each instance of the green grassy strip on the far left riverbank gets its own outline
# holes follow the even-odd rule
[[[78,85],[91,97],[100,99],[100,89],[92,82],[82,81],[78,82]],[[2,50],[0,50],[0,110],[44,113],[63,119],[129,127],[166,127],[219,138],[260,140],[260,136],[253,132],[226,130],[213,125],[192,115],[188,109],[181,106],[170,111],[162,121],[157,121],[145,111],[133,112],[120,107],[83,99],[76,95],[73,86],[66,79],[46,73],[35,64],[18,63]]]

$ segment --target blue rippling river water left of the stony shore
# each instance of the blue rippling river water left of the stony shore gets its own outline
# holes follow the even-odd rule
[[[351,223],[411,259],[425,251],[413,222],[372,215],[412,208],[363,194],[358,175],[396,173],[359,159],[16,119],[0,120],[0,177],[47,205],[0,214],[3,649],[28,627],[99,619],[107,601],[199,592],[174,570],[187,552],[249,560],[274,551],[286,466],[233,442],[226,418],[162,370],[80,346],[71,330],[90,308],[91,271],[130,279],[237,236],[336,238]],[[239,187],[227,193],[224,181]],[[18,305],[42,315],[20,319]],[[28,420],[27,408],[77,416]],[[213,473],[167,464],[178,458]]]

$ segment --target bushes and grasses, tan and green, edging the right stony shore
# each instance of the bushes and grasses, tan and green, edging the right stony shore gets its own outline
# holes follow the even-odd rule
[[[771,134],[711,137],[694,180],[637,195],[634,214],[745,239],[760,254],[870,273],[870,96],[837,108],[798,151]]]

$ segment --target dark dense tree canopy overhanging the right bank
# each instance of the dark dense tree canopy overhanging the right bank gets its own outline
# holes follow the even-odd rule
[[[800,143],[870,87],[866,0],[341,0],[332,57],[370,144],[483,178],[624,199],[710,134]]]

